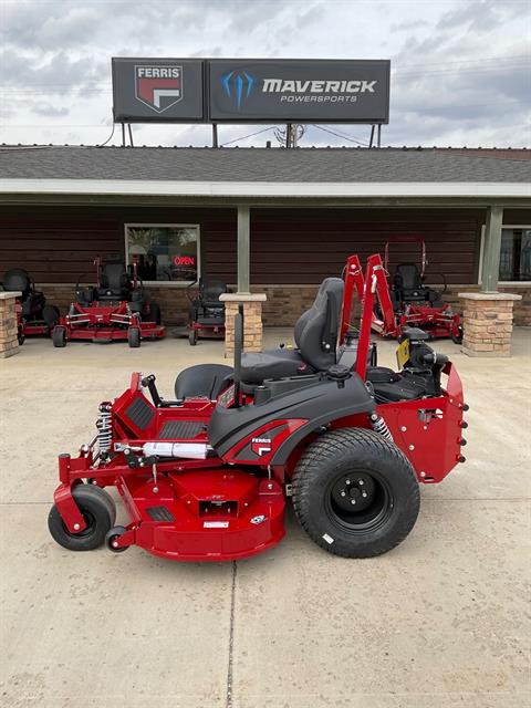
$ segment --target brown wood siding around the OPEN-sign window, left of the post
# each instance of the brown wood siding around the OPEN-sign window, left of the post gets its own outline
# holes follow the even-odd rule
[[[39,283],[93,278],[96,254],[124,254],[125,223],[199,223],[205,272],[236,279],[236,210],[7,207],[0,214],[0,278],[25,268]]]

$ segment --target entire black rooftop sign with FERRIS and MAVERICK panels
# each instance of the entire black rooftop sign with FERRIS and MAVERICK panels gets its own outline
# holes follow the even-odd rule
[[[116,122],[387,123],[389,62],[113,59]]]

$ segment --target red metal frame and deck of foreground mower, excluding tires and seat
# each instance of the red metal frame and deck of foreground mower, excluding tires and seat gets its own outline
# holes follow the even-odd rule
[[[357,377],[350,382],[364,388],[374,300],[377,291],[385,293],[387,283],[379,256],[368,258],[363,280],[360,272],[360,260],[353,256],[345,271],[339,340],[340,344],[346,340],[352,294],[357,289],[363,303],[354,367]],[[236,325],[236,340],[240,341],[241,314]],[[235,357],[235,383],[228,384],[217,400],[164,400],[153,375],[143,378],[134,373],[118,398],[101,404],[94,439],[81,446],[76,457],[59,456],[60,485],[54,502],[69,533],[80,534],[86,529],[75,490],[88,480],[100,488],[115,487],[127,509],[127,525],[107,533],[107,548],[115,552],[138,545],[177,561],[233,561],[261,553],[283,538],[283,511],[293,470],[305,447],[319,435],[316,419],[283,410],[274,417],[258,418],[246,435],[218,455],[207,435],[212,413],[218,407],[239,408],[244,415],[253,402],[252,394],[239,386],[239,356]],[[465,461],[460,454],[465,444],[461,428],[466,427],[462,414],[468,406],[455,366],[447,362],[442,372],[447,382],[440,395],[381,404],[374,409],[420,483],[440,482]],[[326,385],[336,389],[345,384],[332,381]],[[194,427],[191,437],[167,435],[171,428],[183,431],[183,425]],[[365,408],[353,408],[347,415],[332,415],[326,426],[331,430],[371,429],[371,421]],[[171,459],[157,457],[160,445],[171,446]]]

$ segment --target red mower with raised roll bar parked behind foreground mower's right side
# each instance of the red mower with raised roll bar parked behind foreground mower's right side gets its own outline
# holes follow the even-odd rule
[[[462,342],[462,326],[459,314],[442,301],[446,278],[440,275],[444,287],[436,290],[425,284],[428,264],[426,243],[418,237],[395,237],[385,244],[385,272],[389,272],[389,247],[392,243],[417,243],[420,246],[420,269],[416,263],[400,263],[396,267],[391,293],[383,294],[373,314],[373,330],[383,336],[399,337],[406,327],[421,327],[429,339],[451,337],[456,344]],[[363,279],[360,274],[358,278]]]

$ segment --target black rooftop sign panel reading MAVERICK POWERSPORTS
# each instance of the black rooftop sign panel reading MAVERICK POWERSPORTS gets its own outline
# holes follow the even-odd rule
[[[211,60],[212,123],[388,123],[389,62]]]

